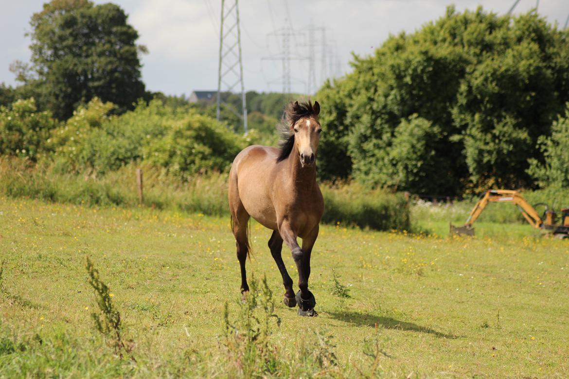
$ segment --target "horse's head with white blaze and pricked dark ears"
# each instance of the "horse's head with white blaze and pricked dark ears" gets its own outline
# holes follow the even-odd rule
[[[296,151],[300,155],[300,164],[303,167],[314,165],[322,131],[318,121],[320,104],[318,101],[314,105],[310,101],[300,104],[296,101],[290,108],[294,115],[291,118],[291,129],[294,132]]]

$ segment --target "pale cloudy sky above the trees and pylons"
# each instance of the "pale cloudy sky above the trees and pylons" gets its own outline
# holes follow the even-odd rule
[[[97,4],[106,2],[94,0]],[[139,32],[138,44],[146,45],[149,50],[141,57],[142,80],[147,89],[172,95],[217,89],[221,0],[112,2],[126,11],[129,23]],[[231,4],[233,0],[225,2]],[[290,60],[291,90],[311,93],[325,78],[348,73],[352,53],[370,55],[390,34],[413,32],[440,18],[452,3],[457,11],[475,10],[480,5],[485,10],[505,14],[514,2],[241,0],[245,90],[283,90],[283,61],[278,59],[287,45],[283,30],[294,31],[288,36],[289,54],[294,58]],[[43,3],[41,0],[0,0],[0,82],[17,85],[9,66],[15,60],[30,60],[30,39],[25,34],[30,31],[31,15],[42,10]],[[559,27],[566,23],[567,0],[519,0],[514,14],[526,13],[536,6],[550,23],[557,22]],[[311,44],[314,45],[314,80],[310,80],[311,60],[308,59]],[[228,77],[227,81],[233,84],[235,79]]]

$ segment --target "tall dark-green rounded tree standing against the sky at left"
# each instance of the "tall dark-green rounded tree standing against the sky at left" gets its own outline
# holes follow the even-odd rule
[[[94,97],[124,111],[145,96],[138,53],[146,48],[137,47],[138,32],[117,5],[53,0],[30,24],[32,70],[57,118],[68,118]]]

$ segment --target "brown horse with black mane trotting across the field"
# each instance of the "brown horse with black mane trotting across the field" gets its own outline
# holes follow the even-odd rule
[[[279,148],[251,145],[238,153],[229,171],[229,209],[241,266],[241,293],[249,291],[245,261],[251,249],[248,222],[253,217],[273,230],[269,249],[283,278],[284,304],[291,308],[298,304],[302,316],[318,315],[308,278],[310,255],[324,213],[324,199],[316,182],[316,152],[322,131],[319,113],[317,101],[288,103],[278,125]],[[283,241],[298,270],[300,290],[296,295],[281,256]]]

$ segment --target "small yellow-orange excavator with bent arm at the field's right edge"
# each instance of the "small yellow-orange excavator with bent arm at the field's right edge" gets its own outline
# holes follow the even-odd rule
[[[478,216],[482,213],[488,203],[514,203],[518,206],[523,217],[530,223],[534,228],[545,230],[549,233],[554,234],[558,238],[569,238],[569,208],[562,209],[560,224],[556,224],[557,213],[554,210],[550,210],[545,203],[538,203],[535,206],[545,206],[545,212],[543,213],[543,218],[539,217],[539,214],[533,206],[531,206],[526,199],[518,191],[512,190],[488,190],[480,198],[480,200],[472,208],[468,219],[463,226],[456,227],[451,224],[451,235],[453,234],[465,234],[474,235],[474,227],[472,224],[476,221]]]

